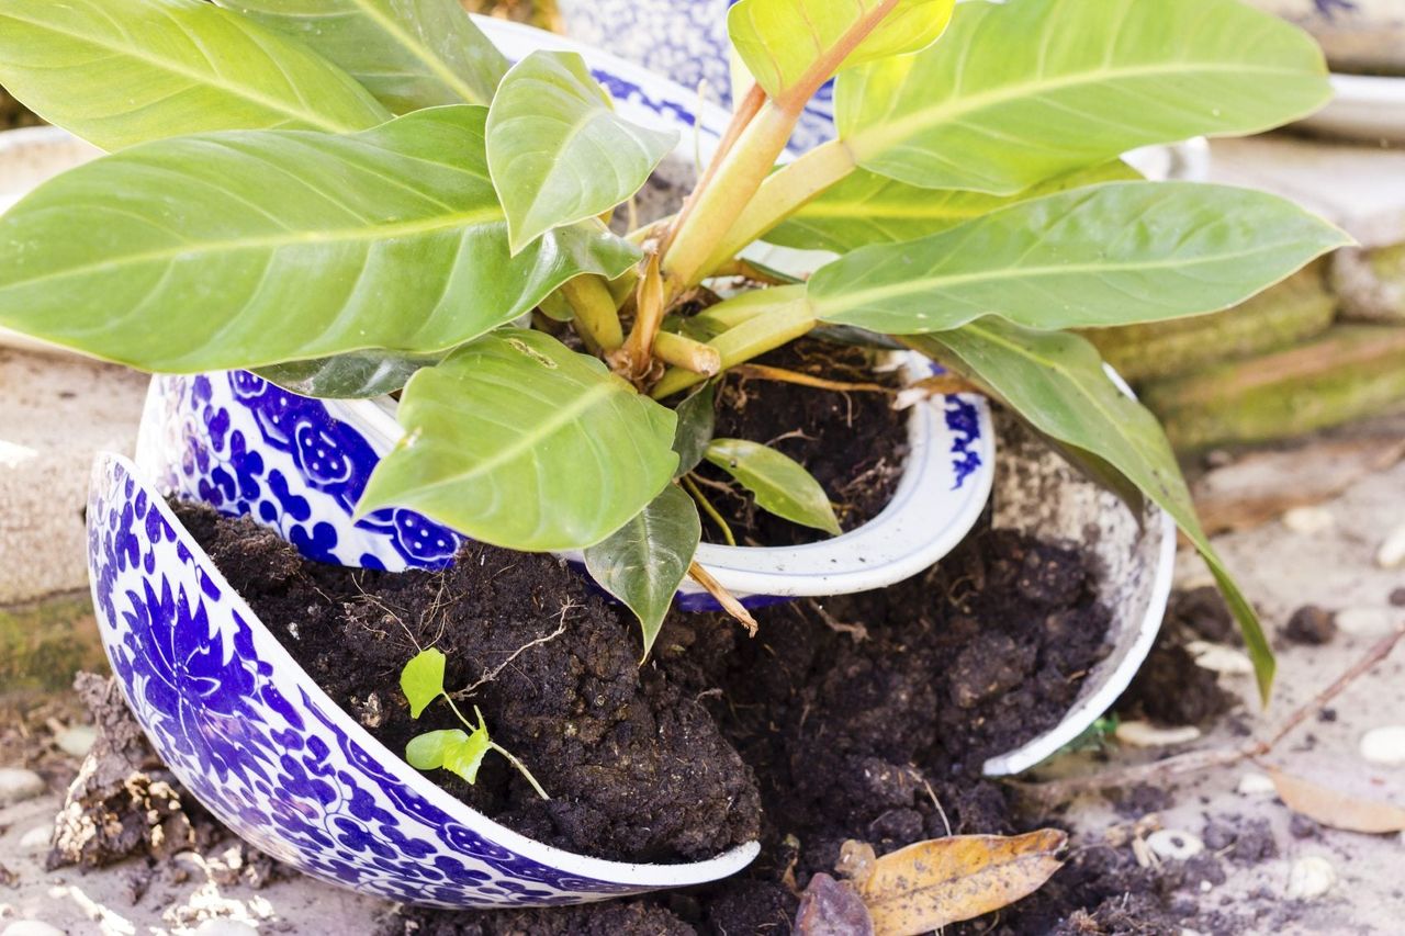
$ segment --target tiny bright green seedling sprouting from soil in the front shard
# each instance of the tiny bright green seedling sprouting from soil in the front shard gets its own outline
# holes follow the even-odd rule
[[[410,718],[419,718],[424,710],[441,696],[448,703],[458,720],[468,731],[450,728],[447,731],[430,731],[405,746],[405,759],[416,770],[448,770],[458,774],[468,783],[478,783],[478,769],[483,766],[483,758],[489,750],[507,758],[507,762],[517,767],[518,773],[527,777],[527,783],[542,800],[549,800],[547,791],[537,783],[521,760],[510,750],[499,745],[488,734],[488,722],[483,713],[473,706],[475,725],[454,704],[454,698],[444,691],[444,654],[437,649],[422,651],[414,659],[405,665],[400,673],[400,690],[410,703]]]

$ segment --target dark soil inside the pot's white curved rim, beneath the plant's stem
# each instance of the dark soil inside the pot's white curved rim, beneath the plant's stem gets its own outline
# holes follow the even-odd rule
[[[895,372],[874,372],[873,351],[819,340],[788,344],[756,364],[843,384],[902,385]],[[829,495],[846,531],[882,513],[908,457],[908,415],[892,409],[889,394],[816,389],[745,374],[731,374],[718,388],[715,436],[763,443],[805,465]],[[749,493],[707,462],[698,474],[725,485],[707,485],[704,493],[739,544],[798,545],[828,535],[760,510]],[[702,535],[710,542],[725,541],[708,519]]]

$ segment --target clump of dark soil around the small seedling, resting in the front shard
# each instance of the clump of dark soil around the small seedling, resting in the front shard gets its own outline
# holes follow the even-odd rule
[[[711,857],[756,838],[752,772],[694,697],[639,668],[635,628],[558,559],[469,545],[443,575],[386,575],[303,562],[273,531],[181,517],[221,571],[327,693],[391,750],[461,724],[438,701],[419,721],[399,675],[419,649],[448,656],[445,686],[486,680],[493,739],[552,800],[490,756],[454,795],[524,835],[635,862]],[[524,649],[525,648],[525,649]]]

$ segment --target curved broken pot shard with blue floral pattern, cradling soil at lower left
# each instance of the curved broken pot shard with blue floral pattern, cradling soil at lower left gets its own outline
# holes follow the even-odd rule
[[[268,854],[429,906],[545,906],[652,890],[621,883],[628,866],[521,839],[385,750],[322,694],[117,457],[94,468],[89,555],[98,627],[138,721],[181,783]],[[670,884],[731,874],[754,853],[677,866]],[[601,880],[590,864],[617,876]]]

